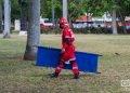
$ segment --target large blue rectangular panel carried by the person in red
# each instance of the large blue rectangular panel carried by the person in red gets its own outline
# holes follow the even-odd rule
[[[37,66],[56,67],[60,61],[60,49],[38,46]],[[99,54],[76,52],[76,62],[80,71],[98,72]],[[66,66],[64,69],[72,69],[72,66]]]

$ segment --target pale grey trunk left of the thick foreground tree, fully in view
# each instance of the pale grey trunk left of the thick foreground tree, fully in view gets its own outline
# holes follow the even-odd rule
[[[11,38],[11,1],[4,0],[4,32],[3,38]]]

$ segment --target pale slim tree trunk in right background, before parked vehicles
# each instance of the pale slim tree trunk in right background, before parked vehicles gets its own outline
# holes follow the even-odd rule
[[[113,13],[112,13],[112,22],[113,22],[113,35],[118,35],[117,32],[117,23],[116,23],[116,10],[113,9]]]

